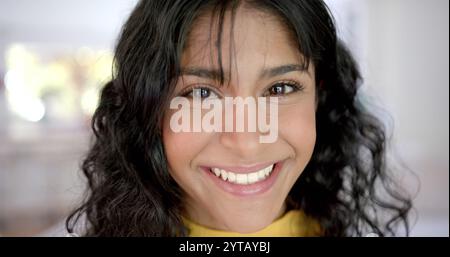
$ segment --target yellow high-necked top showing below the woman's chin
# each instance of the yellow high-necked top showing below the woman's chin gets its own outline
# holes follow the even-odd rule
[[[183,221],[192,237],[301,237],[321,234],[319,223],[299,210],[289,211],[266,228],[249,234],[210,229],[186,218]]]

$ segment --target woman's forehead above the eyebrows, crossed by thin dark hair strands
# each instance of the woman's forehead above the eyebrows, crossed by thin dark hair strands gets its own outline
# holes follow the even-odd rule
[[[247,62],[303,63],[295,37],[282,20],[268,12],[240,6],[234,17],[227,11],[203,13],[193,23],[182,56],[182,66],[219,66]],[[220,57],[220,58],[219,58]]]

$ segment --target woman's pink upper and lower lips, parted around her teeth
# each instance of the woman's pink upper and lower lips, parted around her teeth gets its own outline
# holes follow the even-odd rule
[[[236,173],[250,173],[257,171],[258,169],[264,168],[272,163],[273,162],[269,162],[247,167],[246,166],[239,166],[239,167],[214,166],[214,167],[223,168],[225,170],[230,170]],[[268,191],[275,184],[275,181],[278,178],[278,175],[280,174],[281,169],[283,167],[283,161],[275,162],[273,164],[274,164],[273,170],[268,177],[266,177],[262,181],[258,181],[256,183],[247,185],[240,185],[222,180],[221,178],[217,177],[211,172],[212,167],[202,166],[200,168],[205,172],[205,175],[208,176],[213,181],[213,183],[215,183],[219,188],[221,188],[225,192],[231,193],[236,196],[254,196]]]

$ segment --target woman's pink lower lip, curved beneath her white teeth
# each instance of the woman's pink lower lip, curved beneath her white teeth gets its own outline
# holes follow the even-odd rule
[[[273,171],[270,173],[268,178],[251,185],[239,185],[231,182],[226,182],[213,174],[209,168],[202,169],[206,172],[207,176],[210,177],[214,181],[214,183],[222,190],[236,196],[253,196],[267,192],[270,188],[272,188],[278,175],[281,172],[282,166],[283,162],[275,163],[275,167],[273,168]]]

